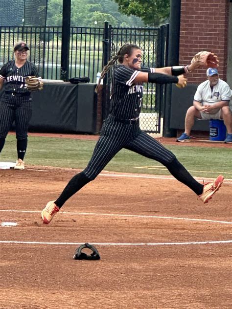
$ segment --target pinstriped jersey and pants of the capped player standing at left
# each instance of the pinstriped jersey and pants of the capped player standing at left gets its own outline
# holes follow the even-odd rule
[[[0,79],[6,82],[0,104],[0,138],[6,137],[14,120],[17,139],[27,137],[32,106],[24,80],[31,75],[39,77],[36,66],[28,61],[20,68],[9,61],[0,69]]]

